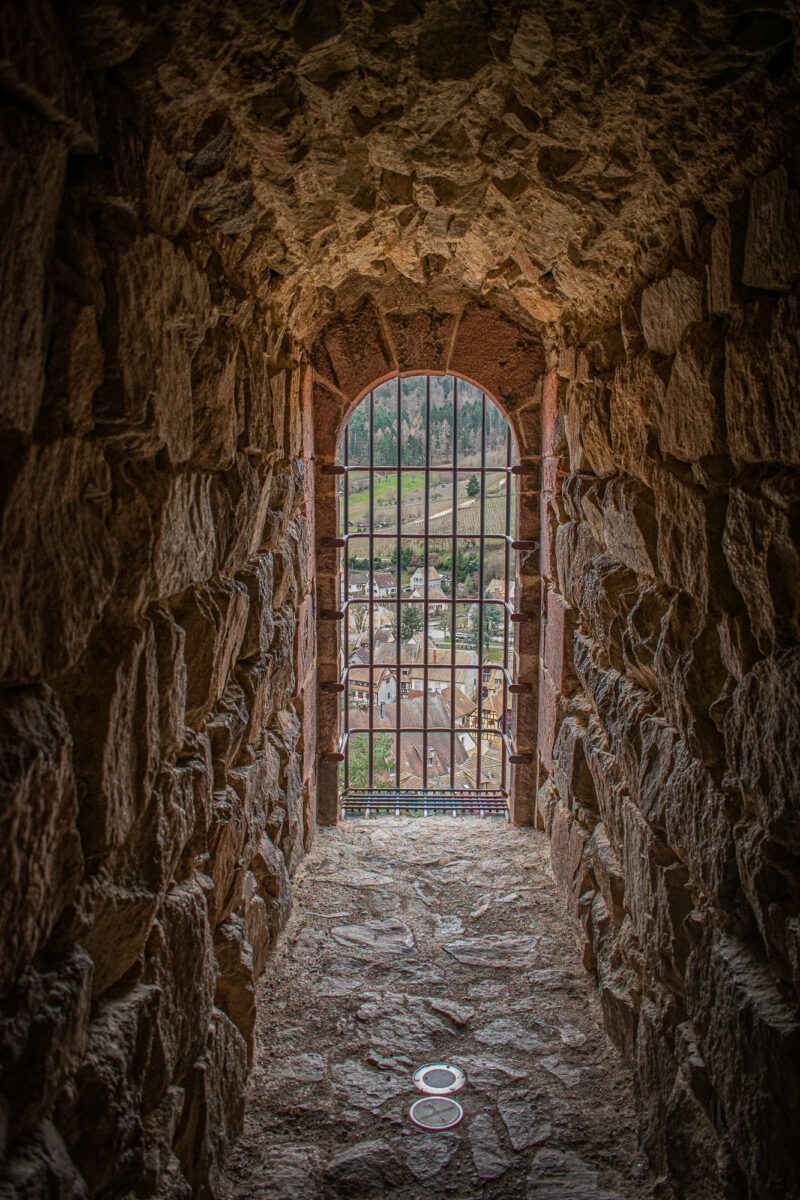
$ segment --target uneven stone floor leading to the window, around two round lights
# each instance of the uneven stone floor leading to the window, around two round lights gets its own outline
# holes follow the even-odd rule
[[[225,1200],[654,1194],[543,835],[441,817],[320,830],[261,996]],[[423,1133],[410,1076],[441,1058],[467,1073],[464,1118]]]

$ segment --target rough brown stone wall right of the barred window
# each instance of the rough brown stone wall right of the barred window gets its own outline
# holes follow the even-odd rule
[[[537,816],[681,1198],[800,1194],[799,184],[545,386]]]

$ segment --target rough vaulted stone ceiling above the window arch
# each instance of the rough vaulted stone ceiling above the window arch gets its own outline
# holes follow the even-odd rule
[[[745,4],[68,13],[164,137],[227,270],[300,337],[365,290],[602,319],[692,240],[693,197],[714,211],[769,162],[793,86],[789,18]]]

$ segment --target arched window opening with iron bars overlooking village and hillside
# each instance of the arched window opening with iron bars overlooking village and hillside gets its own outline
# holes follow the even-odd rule
[[[506,810],[516,468],[500,408],[457,376],[396,376],[350,413],[336,466],[344,810]]]

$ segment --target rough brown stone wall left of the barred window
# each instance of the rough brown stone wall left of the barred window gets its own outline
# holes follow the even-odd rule
[[[203,164],[28,10],[0,109],[0,1192],[203,1196],[311,832],[300,372],[197,220]]]

